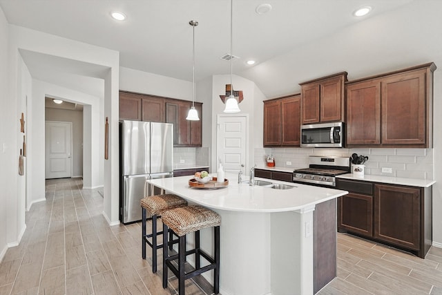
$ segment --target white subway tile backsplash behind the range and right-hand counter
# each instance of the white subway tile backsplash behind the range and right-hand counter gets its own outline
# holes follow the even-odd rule
[[[309,148],[256,148],[255,164],[265,165],[266,155],[275,157],[276,166],[305,168],[309,165],[309,155],[349,156],[352,153],[367,155],[365,174],[385,175],[401,178],[434,178],[433,149],[309,149]],[[383,173],[383,168],[391,168],[392,173]]]

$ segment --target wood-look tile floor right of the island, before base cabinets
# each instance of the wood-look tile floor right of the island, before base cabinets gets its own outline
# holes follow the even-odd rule
[[[431,247],[421,259],[338,233],[338,276],[318,294],[442,295],[442,249]]]

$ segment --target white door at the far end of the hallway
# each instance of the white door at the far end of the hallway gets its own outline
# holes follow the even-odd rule
[[[70,178],[72,122],[46,122],[45,178]]]

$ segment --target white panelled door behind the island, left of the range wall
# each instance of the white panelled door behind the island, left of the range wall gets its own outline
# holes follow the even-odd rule
[[[218,116],[217,159],[221,159],[226,173],[246,172],[247,117],[244,115]],[[218,169],[219,160],[217,160]]]

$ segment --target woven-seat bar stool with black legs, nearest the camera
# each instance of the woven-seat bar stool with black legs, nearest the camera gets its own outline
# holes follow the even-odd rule
[[[184,281],[188,278],[198,276],[203,272],[213,269],[213,293],[218,294],[220,289],[220,224],[221,216],[214,211],[202,206],[193,205],[168,210],[162,215],[163,231],[168,229],[178,236],[178,254],[169,256],[167,247],[167,235],[163,236],[163,288],[167,287],[167,272],[171,269],[178,278],[178,294],[184,295]],[[200,229],[213,227],[214,255],[213,258],[200,249]],[[195,249],[186,251],[186,234],[195,232]],[[184,271],[186,256],[195,254],[195,269],[191,272]],[[209,265],[201,267],[201,256],[205,258]],[[178,260],[178,267],[172,264],[173,260]]]

